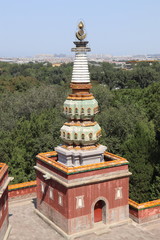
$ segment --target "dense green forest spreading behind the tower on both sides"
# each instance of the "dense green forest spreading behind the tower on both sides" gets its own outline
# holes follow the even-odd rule
[[[35,179],[36,154],[60,144],[71,71],[72,64],[0,63],[0,161],[9,165],[14,183]],[[100,142],[129,160],[130,197],[160,198],[160,64],[122,70],[92,63],[90,71]]]

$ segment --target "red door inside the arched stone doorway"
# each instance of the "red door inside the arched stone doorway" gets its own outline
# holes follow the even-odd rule
[[[106,204],[103,200],[96,202],[94,206],[94,222],[104,221]]]

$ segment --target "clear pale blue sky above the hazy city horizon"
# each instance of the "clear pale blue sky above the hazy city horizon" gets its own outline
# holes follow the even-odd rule
[[[81,19],[92,53],[160,53],[160,0],[0,0],[0,57],[70,54]]]

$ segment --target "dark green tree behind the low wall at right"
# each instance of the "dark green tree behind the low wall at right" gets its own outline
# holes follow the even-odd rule
[[[156,146],[152,122],[137,123],[134,134],[124,142],[123,156],[130,162],[130,198],[137,202],[151,200],[151,184],[154,168],[152,152]]]

